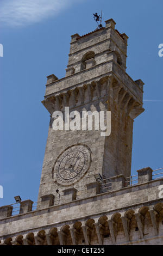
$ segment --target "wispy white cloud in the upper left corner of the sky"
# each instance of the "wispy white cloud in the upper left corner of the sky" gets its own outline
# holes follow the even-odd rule
[[[1,22],[26,26],[56,16],[77,0],[5,0],[1,2]]]

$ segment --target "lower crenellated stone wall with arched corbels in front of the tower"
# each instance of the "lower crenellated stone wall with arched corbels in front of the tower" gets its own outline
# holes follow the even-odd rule
[[[31,200],[21,202],[20,214],[15,216],[11,206],[2,206],[1,245],[150,245],[154,239],[161,244],[163,179],[152,179],[149,167],[137,172],[135,185],[126,186],[119,175],[111,178],[111,191],[96,196],[91,195],[97,189],[92,184],[87,198],[74,199],[70,191],[65,193],[67,203],[55,204],[56,197],[47,195],[34,211]]]

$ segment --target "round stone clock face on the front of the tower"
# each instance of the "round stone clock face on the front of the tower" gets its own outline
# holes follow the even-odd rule
[[[78,181],[90,168],[91,153],[84,145],[76,145],[65,150],[54,165],[54,181],[68,186]]]

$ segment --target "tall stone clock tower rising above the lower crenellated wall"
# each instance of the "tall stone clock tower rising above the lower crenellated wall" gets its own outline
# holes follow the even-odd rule
[[[144,110],[143,82],[126,73],[128,36],[115,29],[114,20],[105,23],[84,36],[72,35],[66,76],[47,76],[42,103],[51,120],[38,201],[53,205],[98,194],[96,174],[112,180],[130,176],[133,121]],[[78,113],[83,121],[83,112],[96,112],[90,115],[92,129],[88,117],[85,129],[74,119]],[[97,128],[102,112],[105,125],[110,113],[109,136]],[[63,120],[58,130],[57,113]],[[71,121],[76,128],[70,129]]]

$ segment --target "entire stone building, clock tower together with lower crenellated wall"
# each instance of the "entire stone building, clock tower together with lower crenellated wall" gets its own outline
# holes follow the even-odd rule
[[[143,82],[126,73],[128,36],[114,20],[105,23],[72,35],[66,76],[47,77],[42,103],[51,119],[38,202],[0,207],[1,245],[162,245],[160,169],[130,177]]]

